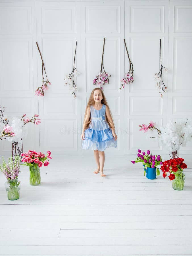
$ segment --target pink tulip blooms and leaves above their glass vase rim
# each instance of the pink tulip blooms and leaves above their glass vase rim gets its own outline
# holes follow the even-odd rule
[[[23,157],[21,161],[24,163],[22,165],[33,167],[48,166],[49,160],[47,158],[52,158],[49,150],[47,151],[47,155],[35,150],[28,150],[28,152],[22,153],[21,156]]]

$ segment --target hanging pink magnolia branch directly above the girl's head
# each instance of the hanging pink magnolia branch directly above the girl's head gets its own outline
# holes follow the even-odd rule
[[[99,75],[97,75],[95,77],[95,79],[93,79],[93,85],[96,85],[98,87],[101,88],[101,90],[103,90],[103,86],[105,84],[109,84],[109,77],[110,75],[105,72],[104,66],[103,66],[103,54],[104,54],[104,48],[105,48],[105,38],[104,38],[104,42],[103,42],[103,53],[102,53],[102,59],[101,59],[101,69],[99,72]]]

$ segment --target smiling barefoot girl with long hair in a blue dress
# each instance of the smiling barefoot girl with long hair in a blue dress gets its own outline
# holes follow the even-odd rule
[[[112,119],[110,109],[103,91],[100,88],[92,90],[85,111],[83,131],[81,138],[83,140],[83,149],[93,149],[97,170],[101,176],[105,162],[105,149],[117,147],[117,135]]]

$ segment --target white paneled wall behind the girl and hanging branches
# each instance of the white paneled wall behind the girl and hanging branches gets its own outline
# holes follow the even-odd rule
[[[92,81],[103,64],[110,73],[105,95],[113,113],[118,148],[107,154],[135,154],[138,148],[167,153],[145,138],[139,124],[192,116],[192,1],[0,1],[0,104],[8,116],[39,113],[41,125],[29,124],[24,150],[54,154],[92,154],[81,150],[81,127]],[[134,82],[119,90],[120,79],[133,63]],[[163,99],[153,75],[159,71],[159,41],[168,92]],[[64,86],[72,71],[75,44],[80,71],[78,98]],[[41,49],[48,79],[44,98],[34,95],[41,85]],[[1,141],[0,154],[9,155],[11,144]],[[192,144],[181,148],[192,153]]]

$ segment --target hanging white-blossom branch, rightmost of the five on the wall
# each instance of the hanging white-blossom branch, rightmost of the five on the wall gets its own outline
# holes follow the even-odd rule
[[[162,77],[162,73],[168,73],[168,69],[165,68],[162,65],[162,59],[161,59],[161,39],[160,39],[160,71],[159,73],[155,73],[153,79],[156,82],[156,88],[158,90],[158,92],[160,93],[160,96],[163,97],[162,93],[165,93],[167,91],[167,87],[165,86],[164,82],[163,82],[163,77]]]

